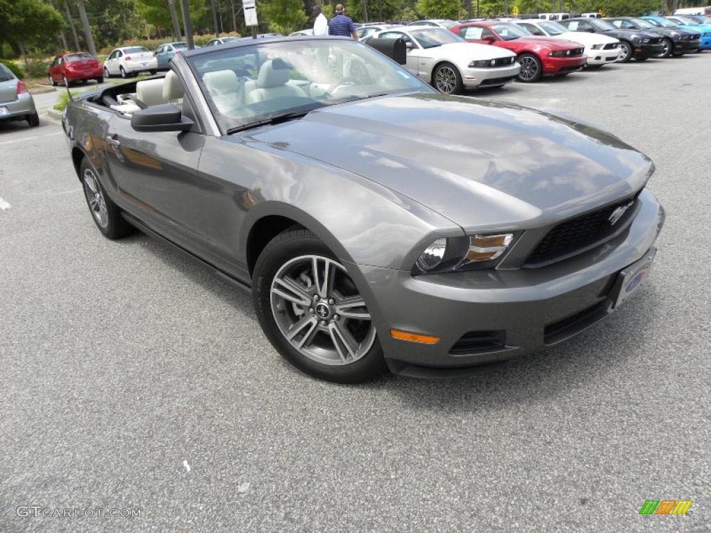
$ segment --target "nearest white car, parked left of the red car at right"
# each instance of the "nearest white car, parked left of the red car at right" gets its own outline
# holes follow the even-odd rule
[[[402,38],[407,45],[405,68],[447,94],[461,92],[464,87],[502,87],[513,82],[521,70],[510,50],[467,43],[444,28],[405,26],[381,31],[375,37]]]

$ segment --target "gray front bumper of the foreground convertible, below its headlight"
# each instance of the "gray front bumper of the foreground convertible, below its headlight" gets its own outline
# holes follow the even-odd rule
[[[413,277],[409,271],[351,265],[370,292],[368,306],[390,369],[429,377],[466,373],[560,343],[607,316],[619,272],[653,247],[663,225],[663,208],[652,193],[643,190],[639,200],[634,221],[621,235],[540,269]],[[441,340],[395,340],[390,328]]]

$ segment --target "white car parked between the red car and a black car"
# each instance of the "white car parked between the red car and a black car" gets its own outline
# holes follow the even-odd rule
[[[587,66],[602,67],[607,63],[614,63],[619,59],[622,50],[618,39],[602,33],[587,33],[582,31],[568,31],[568,29],[555,21],[546,21],[538,18],[526,18],[512,21],[518,26],[540,37],[560,37],[580,43],[585,47]]]

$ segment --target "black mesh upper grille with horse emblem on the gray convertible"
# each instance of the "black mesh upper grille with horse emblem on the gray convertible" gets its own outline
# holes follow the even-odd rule
[[[630,203],[632,205],[629,205]],[[611,224],[612,213],[623,205],[629,205],[629,208],[615,224]],[[602,209],[561,222],[538,243],[528,257],[526,266],[543,266],[590,249],[623,228],[633,212],[634,198],[625,198]]]

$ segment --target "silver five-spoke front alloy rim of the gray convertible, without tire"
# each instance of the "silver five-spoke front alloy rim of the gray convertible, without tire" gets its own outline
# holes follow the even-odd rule
[[[349,365],[375,342],[365,299],[343,265],[328,257],[303,255],[282,265],[269,300],[279,331],[310,360]]]

